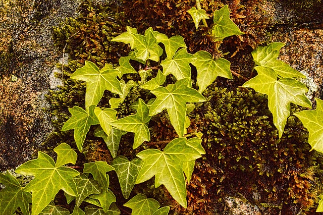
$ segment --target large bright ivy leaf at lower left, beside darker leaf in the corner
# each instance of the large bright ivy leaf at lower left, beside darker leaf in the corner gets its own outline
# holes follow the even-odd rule
[[[58,156],[64,156],[60,152],[58,150]],[[78,196],[73,178],[80,173],[72,168],[62,167],[75,162],[75,156],[66,157],[65,162],[61,160],[61,166],[58,166],[50,156],[39,151],[37,159],[29,160],[17,168],[17,173],[35,176],[25,187],[25,191],[32,193],[32,215],[42,211],[61,189],[71,196]]]

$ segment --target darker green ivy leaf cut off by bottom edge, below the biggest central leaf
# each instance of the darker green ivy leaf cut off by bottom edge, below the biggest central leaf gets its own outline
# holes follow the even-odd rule
[[[134,215],[152,215],[152,214],[157,214],[155,212],[160,207],[160,204],[157,200],[153,198],[147,198],[144,194],[139,193],[136,196],[134,196],[132,199],[130,199],[127,203],[125,203],[124,206],[130,207],[132,209],[131,214],[134,214]],[[162,208],[164,208],[163,209],[164,213],[158,213],[158,214],[167,215],[170,207],[167,206]],[[159,211],[162,211],[160,210],[162,208],[159,208]]]

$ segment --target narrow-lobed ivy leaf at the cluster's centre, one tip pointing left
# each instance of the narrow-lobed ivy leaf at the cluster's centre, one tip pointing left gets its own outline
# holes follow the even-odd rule
[[[135,133],[133,149],[137,148],[144,141],[150,140],[150,133],[147,123],[151,117],[148,116],[149,108],[145,102],[139,98],[137,114],[124,117],[113,123],[112,126],[127,132]]]

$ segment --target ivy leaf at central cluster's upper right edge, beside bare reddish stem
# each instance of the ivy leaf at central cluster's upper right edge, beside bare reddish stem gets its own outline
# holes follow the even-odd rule
[[[197,51],[194,54],[196,58],[192,64],[197,70],[198,91],[202,93],[208,85],[213,83],[218,76],[232,79],[230,70],[230,62],[226,59],[219,58],[213,60],[210,53],[207,51]]]

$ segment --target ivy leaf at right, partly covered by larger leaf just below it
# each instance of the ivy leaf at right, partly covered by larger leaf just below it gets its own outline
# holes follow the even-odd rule
[[[291,68],[283,61],[277,60],[279,50],[285,45],[282,42],[273,42],[267,46],[259,46],[251,52],[254,62],[258,66],[272,68],[283,78],[305,78],[305,76]]]

